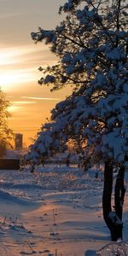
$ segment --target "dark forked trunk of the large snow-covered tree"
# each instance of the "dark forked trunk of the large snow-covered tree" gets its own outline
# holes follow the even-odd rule
[[[102,208],[103,218],[108,225],[108,229],[111,233],[112,241],[117,241],[119,238],[122,239],[122,212],[123,212],[123,201],[125,196],[124,187],[124,173],[125,167],[121,166],[119,174],[115,183],[114,189],[114,201],[115,211],[112,211],[112,191],[113,191],[113,165],[111,163],[105,163],[104,169],[104,189],[102,195]]]

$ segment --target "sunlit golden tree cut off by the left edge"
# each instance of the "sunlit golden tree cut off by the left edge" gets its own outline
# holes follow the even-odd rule
[[[0,156],[6,152],[9,147],[9,139],[12,138],[12,131],[9,129],[9,101],[6,100],[2,90],[0,90]]]

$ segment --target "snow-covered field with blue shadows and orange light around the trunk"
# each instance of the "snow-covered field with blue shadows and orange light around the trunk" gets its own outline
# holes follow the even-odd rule
[[[102,218],[102,172],[98,174],[95,178],[95,170],[53,165],[39,166],[33,174],[0,171],[0,255],[96,255],[110,243]],[[128,241],[127,193],[124,240]],[[113,255],[113,247],[115,243],[98,255]],[[128,255],[123,243],[120,248],[119,255]]]

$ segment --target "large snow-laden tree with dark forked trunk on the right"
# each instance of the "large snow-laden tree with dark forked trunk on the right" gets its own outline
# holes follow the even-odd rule
[[[58,56],[55,66],[42,68],[39,84],[51,90],[73,86],[73,94],[51,111],[51,122],[38,133],[26,160],[65,150],[68,140],[84,150],[84,163],[104,162],[103,216],[113,241],[122,238],[128,157],[128,4],[124,0],[68,0],[67,14],[53,31],[32,32]],[[117,168],[113,189],[113,166]]]

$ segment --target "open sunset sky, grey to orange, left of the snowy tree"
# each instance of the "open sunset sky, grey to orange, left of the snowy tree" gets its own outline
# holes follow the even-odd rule
[[[54,93],[38,85],[39,66],[55,63],[49,47],[35,45],[30,36],[38,26],[53,29],[61,20],[59,6],[64,0],[0,0],[0,87],[6,92],[12,114],[10,128],[23,133],[24,143],[31,143],[49,110],[68,95]]]

